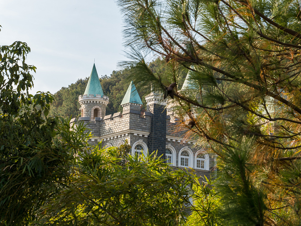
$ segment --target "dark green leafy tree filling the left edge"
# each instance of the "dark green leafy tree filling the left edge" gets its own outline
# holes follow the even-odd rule
[[[81,125],[70,131],[67,121],[48,116],[50,93],[28,94],[36,68],[25,63],[26,43],[0,50],[0,222],[28,225],[69,177],[87,135]]]

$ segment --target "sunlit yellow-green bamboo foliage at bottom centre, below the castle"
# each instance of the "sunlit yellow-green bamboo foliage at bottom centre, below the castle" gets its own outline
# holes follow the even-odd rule
[[[173,171],[156,156],[127,155],[116,149],[79,154],[70,182],[42,207],[42,225],[181,225],[193,178]],[[184,209],[183,209],[184,208]]]

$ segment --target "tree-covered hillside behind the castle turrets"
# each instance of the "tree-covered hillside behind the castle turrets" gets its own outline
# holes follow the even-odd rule
[[[166,62],[164,60],[157,58],[147,64],[154,74],[160,75],[165,73]],[[126,90],[128,89],[130,83],[129,75],[131,74],[131,70],[132,69],[130,67],[126,67],[123,70],[113,71],[110,76],[98,74],[104,95],[109,97],[106,115],[122,111],[120,103],[122,102]],[[181,89],[186,74],[186,70],[178,72],[178,89]],[[87,74],[83,76],[84,78],[80,78],[75,83],[70,84],[68,87],[62,87],[59,91],[54,93],[55,101],[52,102],[49,112],[51,116],[61,116],[64,118],[77,118],[80,116],[78,97],[79,95],[84,94],[89,75],[90,71],[87,71]],[[143,103],[141,110],[146,110],[146,102],[144,97],[151,92],[151,84],[148,86],[142,86],[140,83],[138,83],[135,84],[135,86]]]

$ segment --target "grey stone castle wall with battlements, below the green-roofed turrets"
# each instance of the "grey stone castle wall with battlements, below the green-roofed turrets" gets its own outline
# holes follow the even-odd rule
[[[162,101],[161,101],[162,102]],[[149,153],[158,150],[158,155],[165,158],[165,149],[169,148],[173,151],[172,167],[182,168],[180,166],[180,154],[183,150],[187,150],[191,156],[189,167],[193,168],[197,175],[210,176],[215,161],[212,155],[209,155],[209,170],[196,168],[196,157],[199,151],[206,153],[206,148],[197,147],[193,138],[185,137],[188,131],[185,127],[179,128],[180,122],[173,114],[166,114],[166,108],[162,105],[160,99],[151,99],[147,102],[147,112],[141,116],[138,104],[123,105],[123,112],[117,112],[113,115],[97,117],[90,120],[90,117],[79,118],[87,125],[87,132],[92,133],[92,139],[89,143],[101,146],[119,146],[125,140],[129,141],[132,150],[135,144],[144,143]],[[162,102],[164,104],[164,102]],[[94,102],[85,103],[86,108],[95,106]],[[104,107],[104,108],[103,108]],[[105,112],[105,105],[101,106],[102,112]],[[74,123],[73,121],[70,123]],[[208,155],[207,155],[208,156]],[[188,168],[189,169],[189,168]]]

